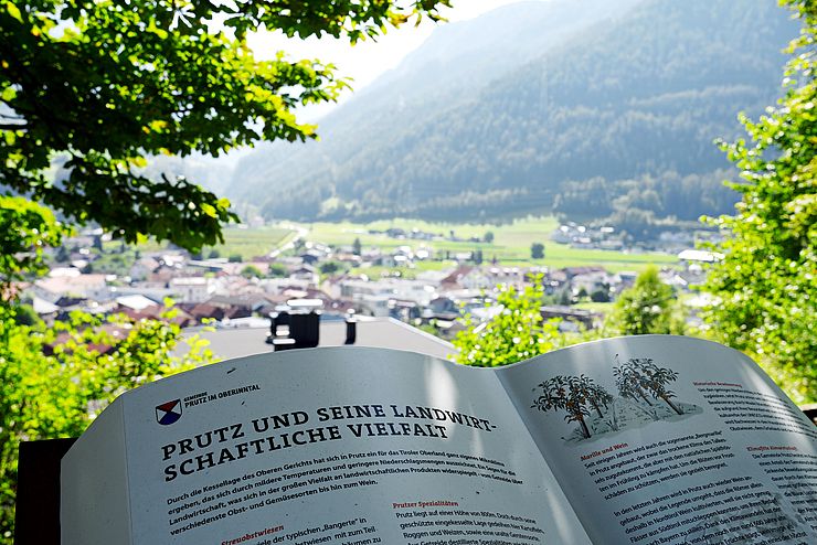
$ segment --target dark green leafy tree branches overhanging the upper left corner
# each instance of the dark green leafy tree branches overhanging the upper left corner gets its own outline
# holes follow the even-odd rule
[[[412,18],[439,19],[447,4],[6,0],[0,183],[129,242],[213,245],[222,223],[236,220],[230,202],[183,179],[149,179],[146,158],[315,138],[293,109],[346,86],[317,61],[256,60],[247,33],[265,26],[354,42]]]

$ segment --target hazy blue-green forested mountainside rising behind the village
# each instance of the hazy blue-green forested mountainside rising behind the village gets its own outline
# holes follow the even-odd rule
[[[773,0],[609,4],[528,2],[442,26],[326,118],[321,141],[242,159],[227,195],[296,220],[728,211],[712,141],[774,101],[795,25]],[[665,190],[681,184],[700,199],[679,206]]]

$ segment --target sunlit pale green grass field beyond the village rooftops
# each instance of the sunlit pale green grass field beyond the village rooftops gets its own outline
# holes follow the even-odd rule
[[[505,225],[477,224],[445,224],[428,223],[415,220],[393,220],[373,222],[370,224],[354,223],[312,223],[301,224],[307,229],[306,238],[330,245],[351,245],[354,238],[360,238],[363,247],[376,246],[381,249],[392,249],[397,246],[417,248],[426,245],[434,248],[437,257],[446,250],[457,252],[482,250],[482,257],[490,261],[496,257],[502,265],[509,266],[548,266],[552,268],[601,265],[612,271],[641,270],[648,265],[677,265],[673,255],[659,253],[624,253],[601,249],[576,249],[565,244],[550,241],[550,234],[559,226],[554,217],[538,217],[518,220]],[[385,231],[402,228],[406,232],[416,228],[425,233],[433,233],[448,237],[450,232],[458,238],[468,239],[478,237],[484,239],[487,232],[494,234],[491,243],[485,242],[453,242],[453,241],[417,241],[396,239],[385,235],[369,234],[369,231]],[[542,243],[545,247],[544,259],[531,259],[530,247],[533,243]]]

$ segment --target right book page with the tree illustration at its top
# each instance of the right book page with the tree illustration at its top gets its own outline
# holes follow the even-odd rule
[[[740,352],[611,339],[499,376],[594,543],[817,543],[817,428]]]

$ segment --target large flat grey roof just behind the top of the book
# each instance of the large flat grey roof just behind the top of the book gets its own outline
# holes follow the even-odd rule
[[[425,331],[413,328],[393,318],[357,319],[356,346],[374,346],[382,349],[407,350],[441,359],[456,354],[454,345]],[[210,350],[217,357],[232,360],[245,355],[270,352],[266,344],[269,328],[237,328],[206,331],[199,328],[184,330],[184,336],[198,333],[210,341]],[[346,322],[342,320],[322,320],[320,322],[319,346],[342,346],[346,342]],[[185,345],[180,344],[183,350]],[[177,349],[179,350],[179,349]]]

